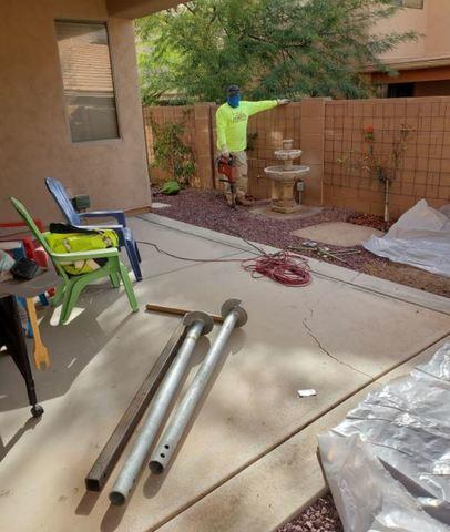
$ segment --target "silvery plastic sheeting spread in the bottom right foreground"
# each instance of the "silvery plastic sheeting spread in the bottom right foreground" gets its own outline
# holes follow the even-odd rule
[[[318,439],[346,532],[449,532],[450,344]]]

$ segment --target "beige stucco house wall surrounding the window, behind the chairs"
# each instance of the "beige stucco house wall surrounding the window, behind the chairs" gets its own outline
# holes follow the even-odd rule
[[[45,176],[89,193],[93,208],[149,205],[133,22],[109,19],[105,0],[0,0],[0,219],[16,217],[9,195],[34,216],[59,219]],[[121,139],[71,142],[55,18],[108,20]]]

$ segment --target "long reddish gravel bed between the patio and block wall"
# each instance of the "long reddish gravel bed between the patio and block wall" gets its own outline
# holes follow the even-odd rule
[[[324,208],[320,213],[307,218],[274,219],[252,214],[248,207],[237,206],[236,209],[231,209],[223,195],[216,191],[186,190],[176,196],[156,195],[156,197],[157,201],[170,205],[164,209],[155,211],[156,214],[284,249],[301,245],[303,238],[290,233],[324,222],[349,222],[380,231],[389,228],[392,224],[388,224],[387,227],[379,216],[357,214],[342,208]],[[257,202],[257,205],[264,204],[268,204],[268,202]],[[331,253],[344,249],[340,246],[329,245],[327,247]],[[346,255],[345,262],[331,256],[318,257],[314,250],[301,253],[337,266],[450,297],[450,278],[448,277],[429,274],[412,266],[391,263],[386,258],[377,257],[361,246],[358,247],[358,252],[355,255]]]

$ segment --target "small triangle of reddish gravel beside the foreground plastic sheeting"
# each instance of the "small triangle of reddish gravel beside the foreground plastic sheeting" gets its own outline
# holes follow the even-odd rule
[[[277,532],[342,532],[335,503],[330,494],[317,499],[290,523],[284,524]]]

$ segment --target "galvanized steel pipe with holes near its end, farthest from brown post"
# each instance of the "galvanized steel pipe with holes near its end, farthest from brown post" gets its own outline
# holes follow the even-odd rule
[[[172,416],[161,441],[153,451],[149,468],[153,473],[162,473],[171,463],[171,460],[180,444],[183,434],[196,410],[198,401],[214,374],[214,369],[221,359],[222,351],[235,327],[242,327],[247,321],[247,313],[239,306],[238,299],[228,299],[222,306],[224,323],[213,341],[205,359],[203,360],[191,386]]]

